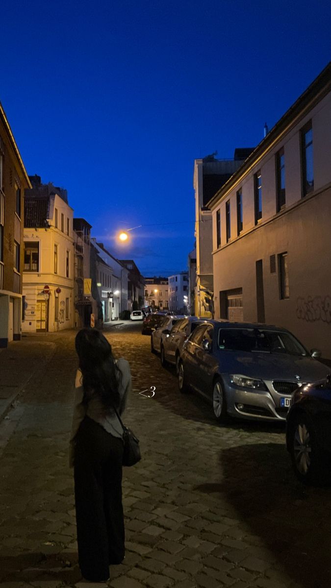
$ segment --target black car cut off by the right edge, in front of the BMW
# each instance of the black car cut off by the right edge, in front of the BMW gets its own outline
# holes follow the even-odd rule
[[[300,482],[330,484],[331,373],[294,391],[286,418],[286,446]]]

